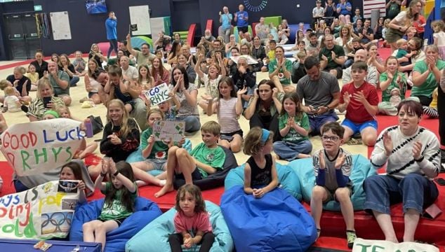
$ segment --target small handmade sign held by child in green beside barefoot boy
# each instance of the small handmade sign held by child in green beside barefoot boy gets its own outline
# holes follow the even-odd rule
[[[153,124],[155,141],[181,141],[184,137],[185,122],[182,121],[156,121]]]

